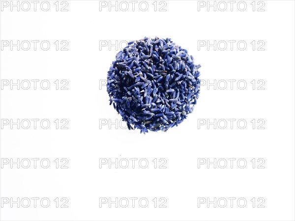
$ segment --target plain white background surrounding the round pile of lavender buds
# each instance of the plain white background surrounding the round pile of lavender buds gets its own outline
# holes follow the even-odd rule
[[[42,129],[40,123],[37,129],[33,125],[29,129],[17,129],[16,125],[10,129],[10,124],[1,124],[1,199],[47,197],[51,202],[48,208],[43,208],[40,201],[36,208],[1,203],[1,220],[295,220],[294,1],[245,1],[244,11],[237,8],[239,1],[232,11],[228,1],[225,1],[228,7],[225,11],[219,10],[224,6],[219,4],[218,8],[218,1],[215,2],[216,11],[213,7],[209,10],[206,6],[198,7],[207,1],[167,0],[163,8],[166,11],[159,11],[164,5],[160,2],[156,2],[155,11],[153,1],[148,1],[146,11],[140,10],[139,3],[132,11],[129,1],[127,11],[100,8],[96,0],[68,0],[68,11],[60,11],[59,2],[59,11],[56,11],[56,1],[49,2],[48,11],[41,10],[40,3],[36,11],[33,3],[29,11],[17,11],[17,8],[11,11],[9,7],[1,7],[0,11],[2,44],[3,40],[13,43],[47,40],[51,44],[47,51],[42,50],[40,44],[36,51],[33,45],[28,51],[22,48],[18,51],[17,47],[11,50],[9,46],[1,49],[1,83],[3,80],[14,83],[39,80],[36,90],[33,85],[28,90],[22,87],[18,90],[17,86],[11,90],[10,85],[1,89],[1,119],[14,122],[48,119],[51,122],[47,130]],[[254,11],[253,4],[256,5]],[[263,4],[264,11],[258,11]],[[242,4],[239,6],[243,8]],[[201,87],[194,112],[166,133],[143,135],[138,130],[125,129],[125,123],[120,122],[120,116],[109,106],[103,85],[120,48],[100,49],[102,42],[116,44],[118,41],[124,45],[125,41],[145,36],[172,38],[202,65],[199,70],[205,83],[214,84],[216,80],[216,88],[214,85],[207,87],[207,84]],[[57,51],[54,44],[57,40],[59,43],[67,41],[68,50],[59,48]],[[234,43],[231,50],[230,40],[245,41],[247,48],[238,49]],[[210,44],[226,41],[228,47],[222,51],[220,43],[216,50],[213,46],[198,49],[198,44],[207,41]],[[263,51],[258,50],[261,46],[258,41],[264,42],[260,48]],[[42,80],[51,83],[48,90],[40,87]],[[68,90],[56,90],[56,80],[66,80]],[[228,80],[235,80],[233,89]],[[247,83],[245,89],[238,88],[239,80]],[[253,80],[256,82],[254,89]],[[259,80],[264,83],[261,87],[264,90],[258,89],[262,84]],[[222,89],[224,81],[228,85]],[[59,119],[59,129],[54,123],[56,119]],[[61,119],[68,120],[68,129],[60,129]],[[220,125],[214,129],[214,125],[200,125],[200,119],[235,121],[233,129],[228,120],[225,129]],[[239,119],[247,122],[245,129],[238,128]],[[255,129],[251,123],[253,119]],[[263,120],[265,129],[258,129],[259,119]],[[47,158],[51,165],[42,168],[39,160],[37,168],[17,168],[17,165],[10,168],[10,164],[3,164],[5,158],[9,161],[11,158],[14,161]],[[57,158],[59,161],[66,158],[68,168],[56,168],[54,160]],[[115,168],[114,165],[99,168],[100,158],[113,161],[145,158],[149,165],[141,168],[138,160],[135,168]],[[167,168],[158,168],[159,165],[154,168],[152,160],[155,158],[158,161],[164,158]],[[229,165],[224,169],[213,165],[209,168],[199,165],[198,168],[200,158],[210,161],[235,158],[236,161],[233,168]],[[247,162],[245,168],[237,166],[240,158]],[[253,168],[253,158],[256,162],[262,158],[265,168],[257,168],[258,163]],[[54,199],[57,197],[67,198],[68,208],[60,208],[60,204],[56,208]],[[142,208],[136,201],[134,208],[131,205],[116,208],[115,204],[111,208],[108,204],[100,208],[101,197],[112,200],[145,197],[149,204]],[[152,199],[155,197],[166,198],[166,208],[159,208],[159,202],[154,208]],[[225,208],[218,205],[214,208],[213,204],[208,208],[206,203],[198,207],[200,197],[210,200],[243,197],[247,205],[241,208],[235,200],[231,208],[228,200]],[[253,197],[256,198],[255,208],[250,201]],[[257,206],[260,197],[265,200],[265,208]]]

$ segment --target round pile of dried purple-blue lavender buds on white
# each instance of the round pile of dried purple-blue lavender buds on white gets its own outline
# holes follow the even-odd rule
[[[170,38],[129,42],[108,71],[110,105],[141,133],[167,131],[194,109],[201,65]]]

